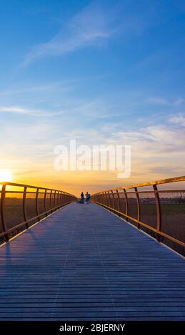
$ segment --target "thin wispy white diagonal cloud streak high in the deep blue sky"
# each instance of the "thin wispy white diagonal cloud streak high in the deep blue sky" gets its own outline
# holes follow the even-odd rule
[[[59,56],[70,53],[77,48],[91,45],[96,41],[109,38],[114,31],[109,26],[109,19],[99,8],[90,5],[66,24],[64,29],[46,43],[34,46],[24,59],[24,66],[36,58]]]

